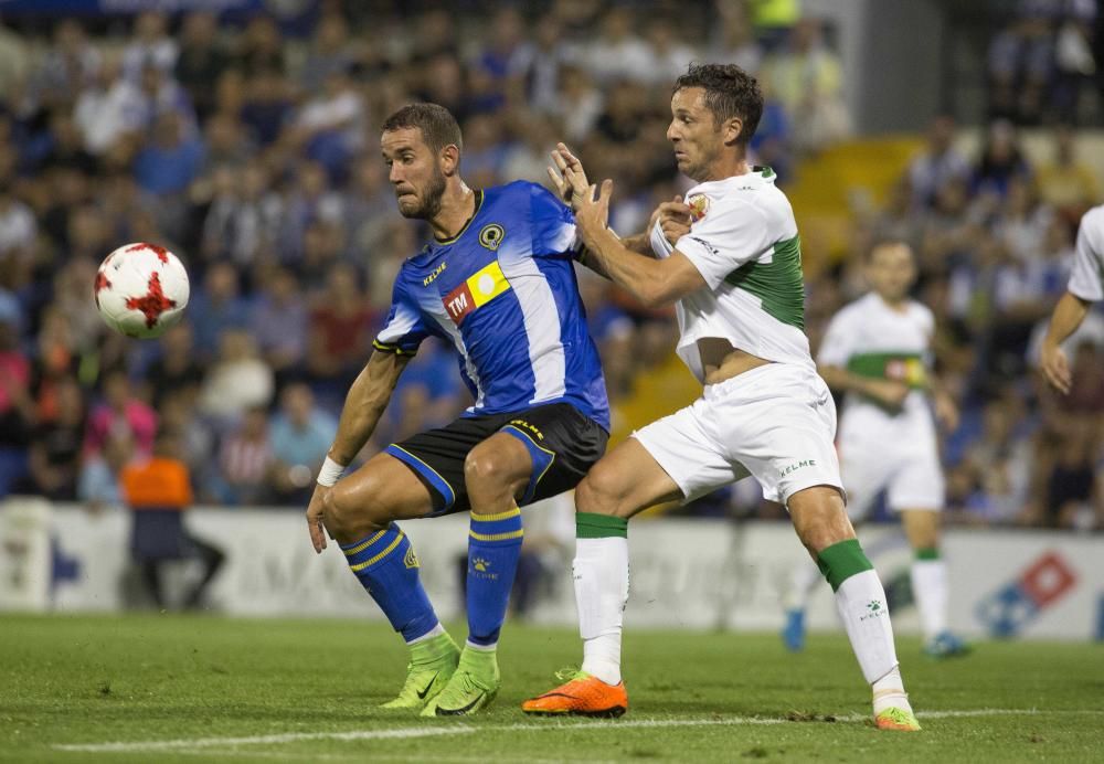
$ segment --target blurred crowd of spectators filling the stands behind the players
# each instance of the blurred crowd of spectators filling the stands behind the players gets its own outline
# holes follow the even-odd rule
[[[783,188],[852,129],[840,59],[814,19],[724,0],[558,0],[540,17],[374,4],[321,2],[295,26],[210,13],[0,25],[0,496],[114,506],[120,468],[171,429],[197,501],[304,507],[392,278],[428,235],[397,214],[378,151],[379,125],[405,103],[457,116],[477,188],[544,180],[565,140],[592,178],[615,180],[623,232],[689,185],[665,134],[691,60],[762,77],[752,149]],[[1001,62],[1027,97],[1016,30],[1019,47],[994,42],[995,105]],[[964,406],[946,442],[956,516],[1098,528],[1104,320],[1078,346],[1069,397],[1043,391],[1029,358],[1100,190],[1069,130],[1040,167],[1007,121],[978,156],[957,153],[954,134],[937,119],[884,209],[856,210],[853,251],[811,275],[814,347],[862,289],[858,253],[906,238]],[[112,333],[91,298],[100,259],[132,241],[168,246],[191,274],[187,320],[159,341]],[[616,410],[669,362],[677,330],[596,277],[581,286]],[[448,349],[427,342],[365,456],[468,404]]]

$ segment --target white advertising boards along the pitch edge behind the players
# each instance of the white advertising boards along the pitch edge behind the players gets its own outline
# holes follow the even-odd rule
[[[527,518],[532,518],[527,510]],[[533,518],[535,519],[535,518]],[[211,588],[224,613],[242,616],[382,615],[336,550],[316,556],[302,517],[280,510],[195,510],[188,526],[226,553]],[[438,613],[460,615],[457,564],[466,517],[403,523],[418,550],[422,576]],[[129,514],[89,514],[10,499],[0,509],[0,609],[117,611],[129,563]],[[866,549],[894,611],[894,627],[915,633],[909,590],[911,553],[895,528],[863,529]],[[773,630],[794,566],[808,560],[785,523],[640,520],[633,524],[631,597],[626,623],[639,627]],[[952,582],[951,626],[973,637],[1101,639],[1104,634],[1104,538],[1058,532],[951,530],[944,544]],[[552,594],[533,618],[574,624],[570,549],[553,558]],[[194,574],[174,563],[172,575]],[[808,563],[811,564],[811,563]],[[810,603],[813,629],[839,628],[830,590]]]

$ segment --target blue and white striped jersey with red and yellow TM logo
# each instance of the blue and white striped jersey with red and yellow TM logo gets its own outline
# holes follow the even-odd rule
[[[475,396],[468,415],[566,402],[609,429],[598,352],[575,280],[575,220],[546,189],[517,181],[476,191],[476,212],[447,242],[407,258],[382,351],[450,342]]]

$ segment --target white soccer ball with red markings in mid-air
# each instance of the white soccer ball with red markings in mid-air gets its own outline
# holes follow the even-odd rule
[[[188,272],[156,244],[125,244],[104,258],[94,297],[107,326],[127,337],[160,337],[184,315]]]

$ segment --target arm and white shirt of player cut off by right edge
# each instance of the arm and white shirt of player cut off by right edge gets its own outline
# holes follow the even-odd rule
[[[1104,204],[1081,217],[1070,283],[1054,306],[1042,341],[1042,373],[1063,394],[1069,394],[1072,380],[1062,342],[1085,320],[1091,305],[1101,300],[1104,300]]]

